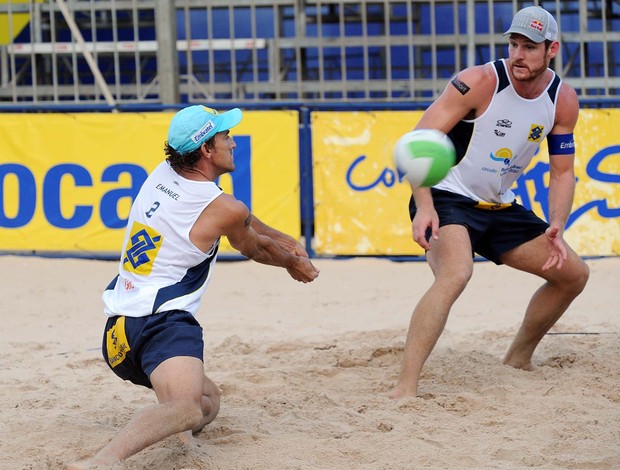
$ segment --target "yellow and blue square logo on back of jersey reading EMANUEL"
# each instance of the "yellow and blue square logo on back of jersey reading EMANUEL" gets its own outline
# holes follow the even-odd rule
[[[141,276],[151,274],[163,241],[164,237],[151,227],[134,222],[125,249],[123,269]]]

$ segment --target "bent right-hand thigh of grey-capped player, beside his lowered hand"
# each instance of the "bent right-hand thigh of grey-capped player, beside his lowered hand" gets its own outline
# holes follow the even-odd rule
[[[549,258],[549,253],[547,237],[543,234],[504,253],[501,261],[506,266],[535,274],[548,281],[587,280],[588,266],[568,245],[566,245],[567,259],[562,268],[552,267],[543,271],[542,267]]]

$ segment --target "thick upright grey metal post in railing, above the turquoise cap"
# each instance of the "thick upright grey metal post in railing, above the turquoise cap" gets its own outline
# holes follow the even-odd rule
[[[159,78],[159,99],[162,104],[176,104],[180,101],[177,16],[174,3],[174,0],[155,2],[157,76]]]

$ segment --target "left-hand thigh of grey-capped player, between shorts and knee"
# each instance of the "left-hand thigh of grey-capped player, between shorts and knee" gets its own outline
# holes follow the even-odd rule
[[[467,227],[458,224],[439,228],[437,240],[431,239],[426,253],[435,277],[447,276],[453,280],[469,280],[473,271],[473,252]]]

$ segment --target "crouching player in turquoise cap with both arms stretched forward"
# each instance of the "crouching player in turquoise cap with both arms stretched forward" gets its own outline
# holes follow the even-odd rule
[[[319,274],[304,248],[225,194],[216,179],[235,169],[229,129],[241,111],[204,106],[170,123],[166,160],[133,203],[119,274],[103,294],[103,356],[124,380],[152,388],[156,405],[138,412],[94,457],[69,468],[114,465],[173,434],[199,431],[218,413],[220,392],[205,375],[195,319],[226,236],[243,255],[286,268],[300,282]]]

